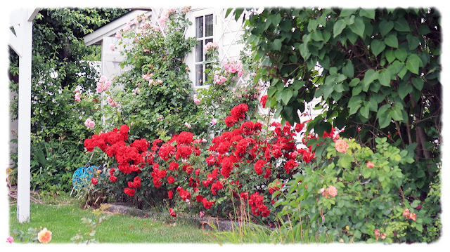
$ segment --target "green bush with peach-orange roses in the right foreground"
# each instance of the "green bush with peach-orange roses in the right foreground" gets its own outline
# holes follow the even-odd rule
[[[389,243],[404,241],[407,229],[422,230],[420,217],[425,218],[425,213],[395,193],[404,180],[399,164],[413,161],[406,150],[393,147],[386,138],[376,139],[374,151],[354,140],[324,141],[324,159],[303,166],[301,173],[272,194],[278,199],[274,206],[283,206],[278,220],[293,221],[281,230],[300,232],[303,227],[308,234],[299,237],[317,234],[342,242]]]

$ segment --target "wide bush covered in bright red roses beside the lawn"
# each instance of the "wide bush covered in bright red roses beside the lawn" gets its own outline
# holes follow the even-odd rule
[[[225,119],[229,131],[213,138],[209,147],[186,131],[166,142],[138,139],[128,144],[132,129],[127,125],[95,134],[84,146],[89,152],[98,147],[108,156],[108,181],[121,190],[116,196],[132,197],[138,206],[159,197],[173,206],[172,216],[186,209],[229,215],[243,202],[253,215],[267,218],[275,210],[269,184],[292,178],[300,163],[314,159],[314,152],[311,146],[297,147],[295,137],[303,124],[266,127],[245,121],[247,111],[245,104],[233,107]]]

